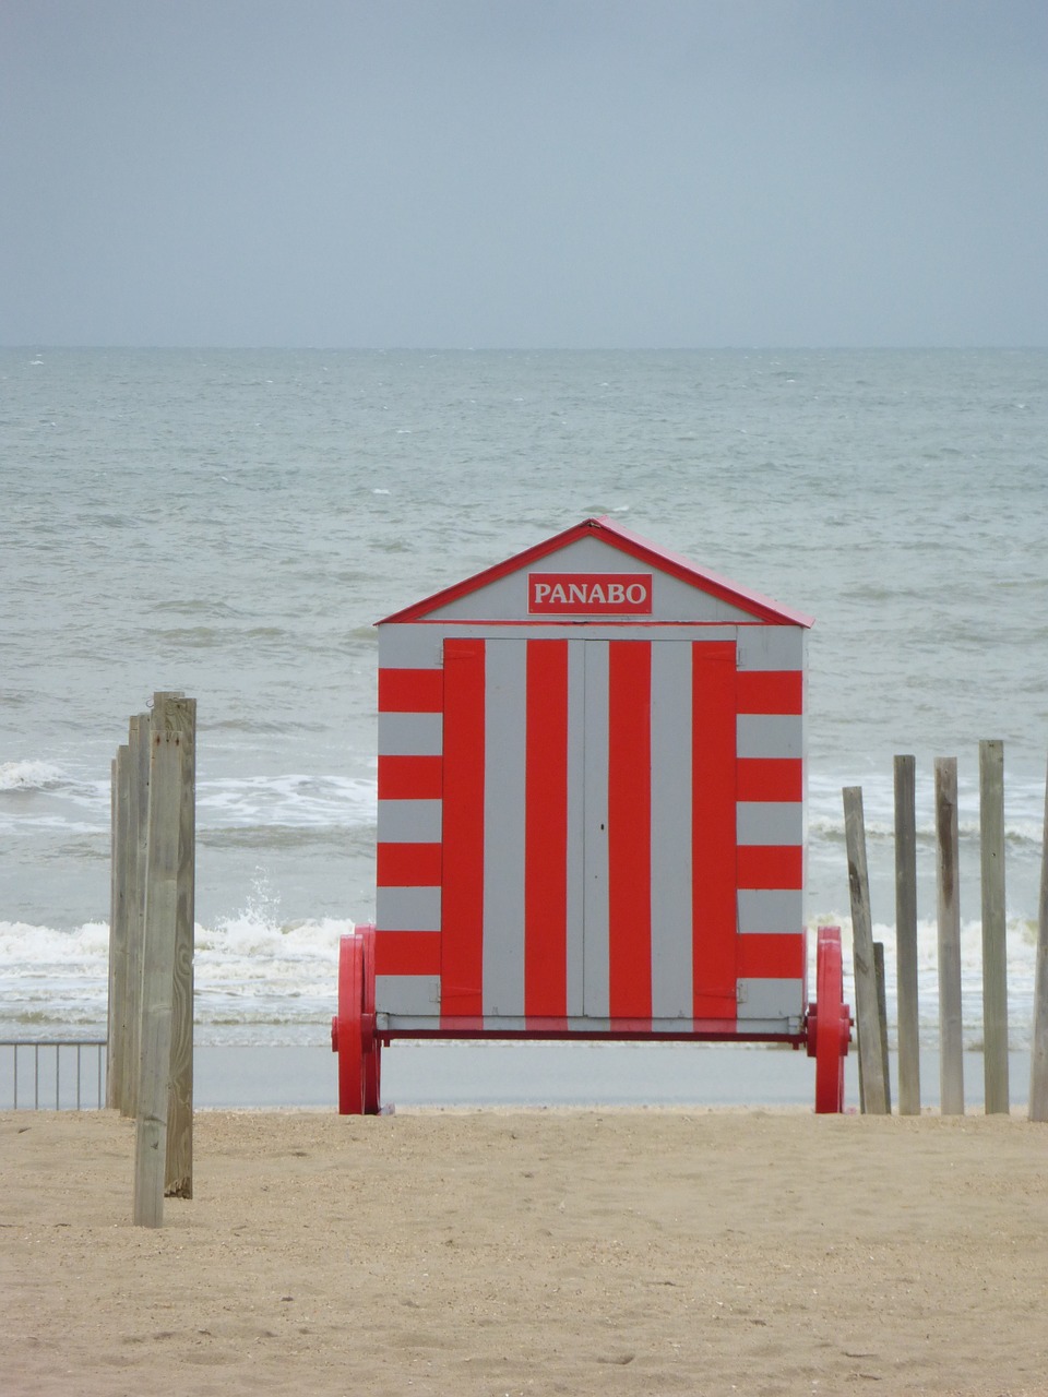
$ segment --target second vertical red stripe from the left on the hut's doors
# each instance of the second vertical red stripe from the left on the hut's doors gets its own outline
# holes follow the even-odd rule
[[[527,643],[524,1014],[567,1013],[567,641]]]

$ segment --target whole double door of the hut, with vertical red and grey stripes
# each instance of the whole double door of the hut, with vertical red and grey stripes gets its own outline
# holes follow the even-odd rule
[[[442,1018],[735,1018],[735,647],[444,643]]]

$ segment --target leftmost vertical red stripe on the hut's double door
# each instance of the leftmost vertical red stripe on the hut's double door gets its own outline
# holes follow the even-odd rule
[[[442,1021],[483,1014],[483,655],[444,641]]]

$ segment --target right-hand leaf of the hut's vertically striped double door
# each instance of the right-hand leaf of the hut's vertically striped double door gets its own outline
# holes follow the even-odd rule
[[[734,1021],[735,647],[584,648],[585,1014]]]

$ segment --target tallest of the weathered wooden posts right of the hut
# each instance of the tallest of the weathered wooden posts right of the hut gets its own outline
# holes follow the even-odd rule
[[[1005,926],[1005,745],[980,743],[982,872],[982,1071],[987,1115],[1007,1115],[1007,947]]]

